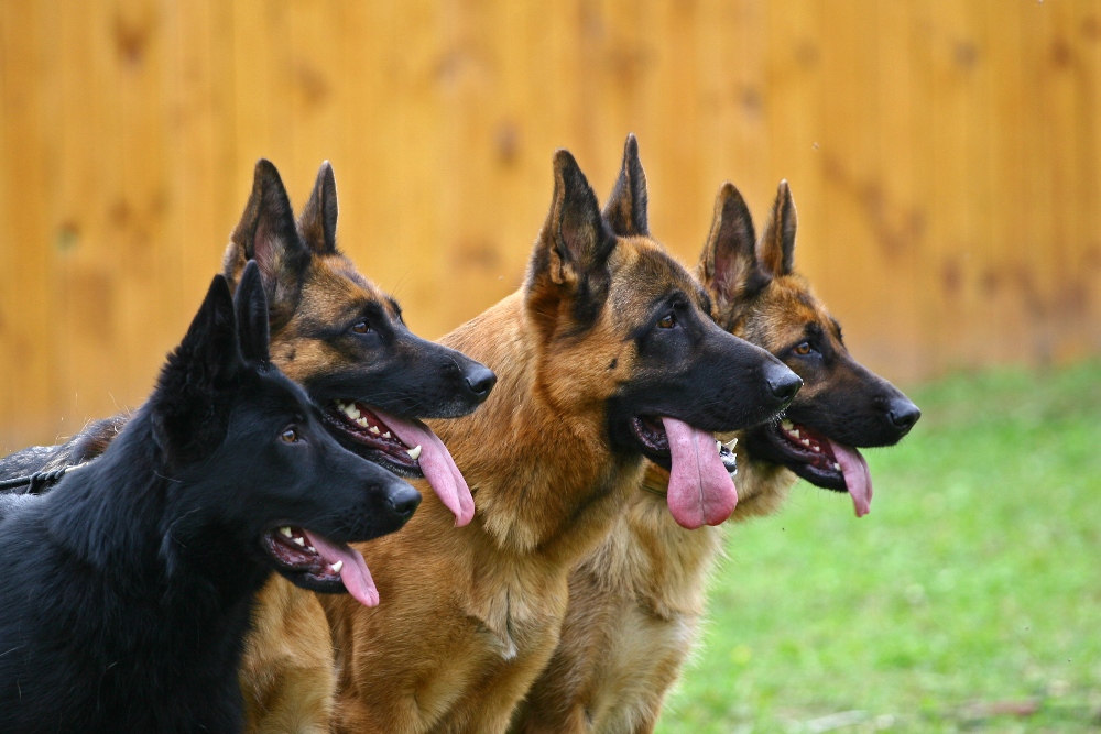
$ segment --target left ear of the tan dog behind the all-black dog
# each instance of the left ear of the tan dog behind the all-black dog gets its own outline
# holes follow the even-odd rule
[[[309,266],[309,249],[298,238],[291,199],[271,161],[257,162],[252,195],[230,237],[222,273],[230,285],[240,281],[244,264],[260,265],[273,322],[294,313],[302,277]]]

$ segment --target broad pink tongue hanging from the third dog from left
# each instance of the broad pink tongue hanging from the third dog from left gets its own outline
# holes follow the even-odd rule
[[[694,530],[718,525],[738,504],[734,482],[722,465],[715,437],[676,418],[662,418],[669,439],[669,512],[682,527]]]

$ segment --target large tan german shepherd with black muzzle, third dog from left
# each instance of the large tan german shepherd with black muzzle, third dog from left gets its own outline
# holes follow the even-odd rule
[[[609,230],[566,151],[554,179],[522,288],[444,339],[500,376],[476,416],[434,424],[478,497],[473,522],[455,530],[426,496],[401,534],[361,547],[384,604],[319,596],[327,623],[285,632],[331,629],[336,731],[503,732],[557,644],[569,570],[607,535],[644,458],[672,468],[684,522],[719,522],[733,486],[711,431],[766,419],[798,388],[715,325],[706,292],[656,241]],[[619,199],[644,195],[630,176],[619,186]]]

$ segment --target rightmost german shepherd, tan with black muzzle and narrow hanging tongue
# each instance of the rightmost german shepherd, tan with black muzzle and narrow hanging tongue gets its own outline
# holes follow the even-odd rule
[[[745,202],[726,184],[700,258],[698,274],[722,328],[767,349],[804,381],[783,420],[741,434],[735,521],[775,511],[796,476],[848,491],[857,515],[865,514],[872,483],[854,447],[896,443],[920,416],[849,355],[837,320],[794,271],[795,228],[786,182],[760,242]],[[674,523],[664,511],[667,486],[668,473],[651,464],[612,534],[571,574],[562,640],[514,732],[653,731],[689,655],[722,540],[718,529]]]

